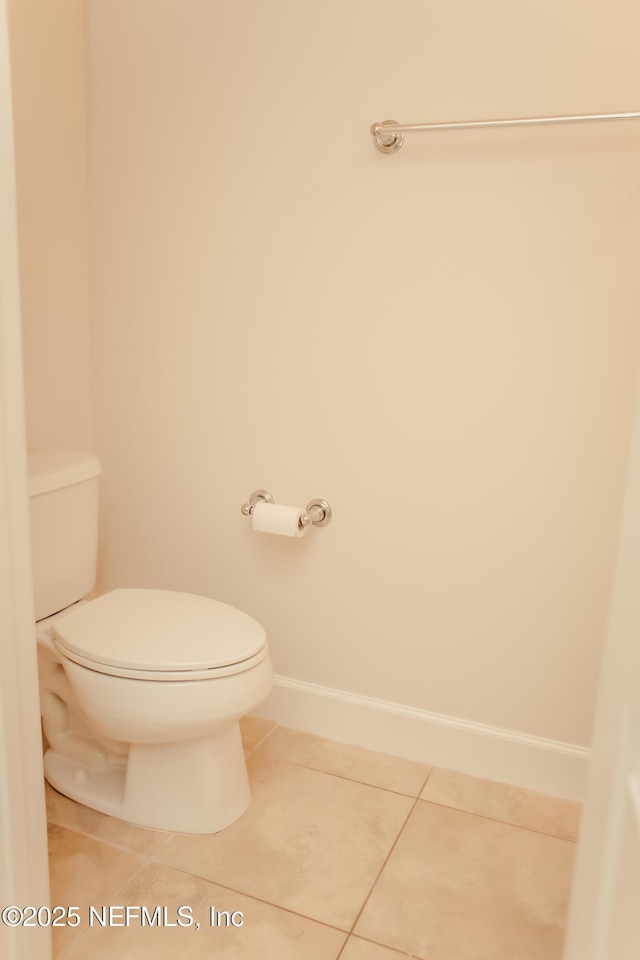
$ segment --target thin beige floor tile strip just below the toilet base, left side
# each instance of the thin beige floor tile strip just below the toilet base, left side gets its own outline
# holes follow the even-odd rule
[[[85,807],[69,797],[64,797],[54,790],[48,783],[45,784],[47,800],[47,820],[57,823],[61,827],[75,830],[77,833],[86,833],[98,840],[106,840],[118,847],[134,850],[137,853],[151,856],[171,836],[160,830],[147,830],[136,827],[125,820],[108,817],[90,807]]]

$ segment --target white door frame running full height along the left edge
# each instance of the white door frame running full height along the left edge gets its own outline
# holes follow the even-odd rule
[[[29,542],[13,113],[0,0],[0,906],[49,904]],[[7,960],[50,960],[50,931],[0,923]]]

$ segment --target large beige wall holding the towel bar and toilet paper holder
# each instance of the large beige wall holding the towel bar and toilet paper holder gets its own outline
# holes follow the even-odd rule
[[[589,742],[638,347],[626,0],[89,0],[101,587],[279,674]],[[634,21],[631,22],[631,18]],[[326,497],[303,540],[240,505]]]

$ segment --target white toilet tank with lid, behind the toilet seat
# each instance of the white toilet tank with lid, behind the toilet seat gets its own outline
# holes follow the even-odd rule
[[[95,585],[101,472],[100,461],[90,453],[29,454],[36,620],[70,606]]]

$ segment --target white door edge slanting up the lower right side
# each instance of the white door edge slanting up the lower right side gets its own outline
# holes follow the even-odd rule
[[[639,576],[640,376],[564,960],[615,960],[616,901],[629,893],[619,884],[629,814],[640,831]]]

